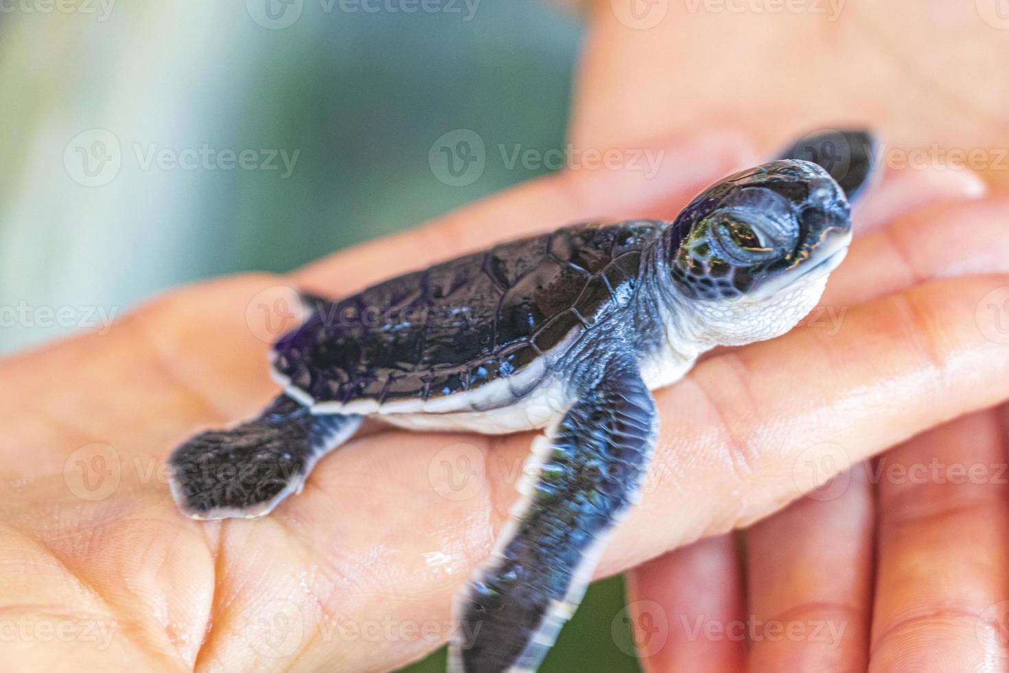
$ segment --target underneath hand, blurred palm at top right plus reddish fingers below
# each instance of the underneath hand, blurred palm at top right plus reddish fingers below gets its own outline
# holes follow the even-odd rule
[[[640,20],[628,12],[632,3]],[[780,11],[772,14],[774,6]],[[796,128],[855,121],[882,131],[887,165],[908,149],[931,152],[941,144],[980,151],[986,179],[1007,186],[999,112],[1005,92],[988,84],[988,70],[1004,62],[1009,42],[992,22],[994,3],[789,6],[801,11],[770,2],[594,3],[572,141],[633,146],[640,137],[717,120],[746,127],[769,152]],[[928,43],[941,46],[923,51]],[[933,152],[925,160],[959,167],[950,156]],[[949,173],[890,172],[884,201],[891,205],[861,208],[857,229],[913,221],[907,210],[914,195],[927,194],[925,183],[941,183]],[[903,198],[897,196],[902,190]],[[891,230],[905,228],[908,249],[931,244],[927,232],[910,242],[911,226]],[[965,261],[961,268],[969,267]],[[844,293],[838,284],[854,277],[850,269],[829,293]],[[866,276],[861,282],[872,287]],[[831,301],[829,293],[824,302]],[[1004,443],[992,428],[1005,436],[1004,415],[1004,409],[989,410],[917,438],[879,463],[860,463],[836,500],[806,498],[749,529],[742,543],[716,536],[632,571],[629,609],[636,640],[650,655],[646,670],[865,670],[870,662],[878,670],[923,670],[941,666],[937,662],[1000,668],[1009,657],[999,640],[1002,615],[985,610],[992,605],[989,611],[998,612],[1009,597],[998,500],[1004,492],[992,483],[1005,464]],[[926,470],[923,482],[913,482],[890,478],[890,468],[879,467],[901,467],[912,461],[910,454],[917,456],[912,469],[938,461],[938,473]],[[947,470],[965,465],[985,467],[987,476],[980,483],[943,482]],[[916,508],[928,517],[894,523],[914,517]],[[847,630],[844,638],[825,631],[826,638],[811,638],[813,623]],[[805,631],[798,638],[768,637],[789,624]],[[712,627],[715,636],[696,631],[697,625]],[[731,627],[743,637],[726,636]],[[756,638],[751,629],[758,629]]]

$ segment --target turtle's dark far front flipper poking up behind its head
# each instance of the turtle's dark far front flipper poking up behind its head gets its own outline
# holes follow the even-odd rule
[[[861,197],[878,176],[874,161],[879,139],[862,128],[828,129],[804,136],[778,158],[798,158],[818,164],[837,181],[851,202]]]

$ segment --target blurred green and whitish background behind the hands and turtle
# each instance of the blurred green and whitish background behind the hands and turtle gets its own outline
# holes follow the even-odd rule
[[[583,29],[536,0],[41,6],[0,14],[0,307],[18,309],[3,353],[545,172],[509,158],[564,146]],[[482,160],[456,179],[442,145]],[[593,585],[542,670],[639,670],[624,607],[620,578]],[[406,670],[444,665],[442,651]]]

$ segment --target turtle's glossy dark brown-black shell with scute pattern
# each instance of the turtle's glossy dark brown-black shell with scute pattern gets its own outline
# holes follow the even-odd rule
[[[277,342],[274,369],[317,403],[379,405],[468,390],[533,363],[545,373],[539,365],[571,337],[626,305],[642,247],[664,226],[574,225],[323,302]]]

